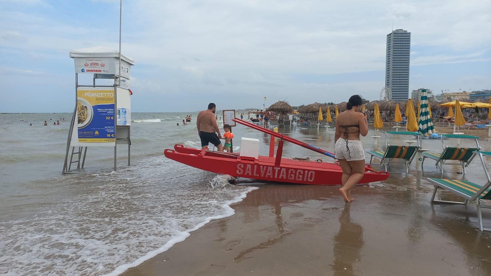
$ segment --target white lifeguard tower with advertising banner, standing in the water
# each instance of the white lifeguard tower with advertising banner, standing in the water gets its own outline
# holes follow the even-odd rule
[[[116,146],[126,144],[130,166],[130,81],[135,61],[106,47],[73,50],[70,57],[75,62],[75,109],[63,173],[83,168],[88,147],[114,147],[116,170]],[[79,74],[93,74],[92,84],[79,83]],[[113,82],[107,84],[108,81],[101,79]],[[76,169],[72,168],[75,164]]]

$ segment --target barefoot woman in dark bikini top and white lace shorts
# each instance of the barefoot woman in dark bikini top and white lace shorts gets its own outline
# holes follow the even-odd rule
[[[339,192],[346,202],[353,201],[351,188],[355,186],[365,174],[365,152],[360,140],[360,134],[368,134],[368,121],[366,113],[360,113],[363,101],[358,95],[351,96],[346,104],[346,111],[336,118],[336,134],[334,135],[334,148],[336,159],[343,170],[341,183],[343,187]]]

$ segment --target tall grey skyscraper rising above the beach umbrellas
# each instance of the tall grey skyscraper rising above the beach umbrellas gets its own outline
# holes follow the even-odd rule
[[[385,86],[392,90],[392,100],[409,98],[409,53],[411,33],[396,29],[387,34],[387,57],[385,63]]]

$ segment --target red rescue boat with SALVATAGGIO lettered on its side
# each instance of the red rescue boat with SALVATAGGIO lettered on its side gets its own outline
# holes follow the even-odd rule
[[[272,139],[274,137],[280,138],[276,156],[274,156],[274,142],[272,142],[270,155],[259,156],[258,158],[240,156],[238,153],[188,148],[180,144],[174,145],[174,149],[165,149],[165,157],[188,166],[219,174],[228,174],[234,177],[296,184],[341,185],[343,171],[335,163],[327,163],[320,160],[320,162],[299,161],[281,158],[285,140],[329,157],[333,157],[332,153],[238,118],[235,118],[234,121],[270,134]],[[366,165],[365,174],[359,184],[383,181],[388,177],[388,172],[377,172],[371,169],[369,165]]]

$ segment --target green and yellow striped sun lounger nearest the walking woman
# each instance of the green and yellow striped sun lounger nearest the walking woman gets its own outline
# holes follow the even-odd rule
[[[380,164],[384,165],[387,171],[387,163],[402,163],[406,165],[406,173],[408,173],[409,164],[416,155],[417,146],[391,146],[389,145],[385,152],[367,151],[370,154],[370,165],[374,157],[380,158]],[[394,159],[402,159],[403,162],[394,162]]]

